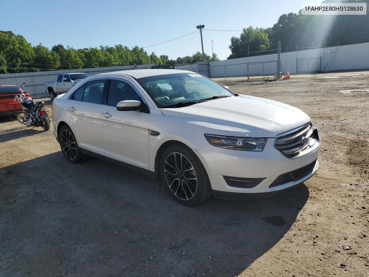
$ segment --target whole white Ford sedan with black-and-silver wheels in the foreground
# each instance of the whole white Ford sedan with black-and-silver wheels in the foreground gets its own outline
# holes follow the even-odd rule
[[[54,99],[52,114],[67,161],[124,163],[187,206],[279,191],[318,169],[320,137],[306,113],[190,71],[89,76]]]

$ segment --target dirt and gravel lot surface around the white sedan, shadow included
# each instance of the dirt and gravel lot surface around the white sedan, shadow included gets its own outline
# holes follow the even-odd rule
[[[340,75],[223,82],[309,114],[320,168],[277,197],[196,208],[141,173],[67,163],[52,128],[2,120],[0,276],[369,276],[369,93],[343,93],[369,74]]]

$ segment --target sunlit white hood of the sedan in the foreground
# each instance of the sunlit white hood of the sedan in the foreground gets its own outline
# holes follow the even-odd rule
[[[277,101],[253,97],[232,96],[191,106],[161,110],[163,115],[187,119],[187,123],[202,126],[212,134],[249,137],[275,137],[310,121],[303,111]]]

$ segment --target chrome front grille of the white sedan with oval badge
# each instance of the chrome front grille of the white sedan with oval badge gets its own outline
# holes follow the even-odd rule
[[[318,131],[309,122],[276,137],[274,147],[287,158],[297,158],[319,146]]]

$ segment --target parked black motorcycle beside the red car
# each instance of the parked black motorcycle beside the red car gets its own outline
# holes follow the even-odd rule
[[[22,110],[17,113],[17,120],[26,126],[42,127],[44,131],[50,129],[49,115],[44,109],[45,102],[35,103],[32,99],[27,99],[27,96],[21,90],[25,83],[19,86],[20,94],[14,96],[14,102],[21,103]]]

